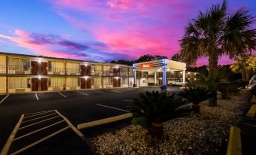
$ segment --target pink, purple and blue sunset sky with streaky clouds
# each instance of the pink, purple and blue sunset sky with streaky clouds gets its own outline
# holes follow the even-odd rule
[[[95,62],[171,58],[188,20],[221,0],[1,0],[0,51]],[[230,0],[229,11],[256,0]],[[256,27],[256,24],[253,26]],[[220,58],[221,65],[233,60]],[[197,65],[208,63],[199,59]]]

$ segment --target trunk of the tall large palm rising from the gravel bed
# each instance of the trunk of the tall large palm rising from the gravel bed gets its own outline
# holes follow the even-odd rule
[[[209,89],[211,93],[214,94],[209,100],[209,106],[217,106],[217,84],[215,82],[217,75],[217,59],[218,55],[216,53],[213,52],[209,55],[209,78],[211,79]]]

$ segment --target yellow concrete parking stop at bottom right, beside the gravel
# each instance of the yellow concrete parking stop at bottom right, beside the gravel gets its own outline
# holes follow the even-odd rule
[[[241,129],[239,127],[231,126],[230,128],[227,155],[242,155]]]

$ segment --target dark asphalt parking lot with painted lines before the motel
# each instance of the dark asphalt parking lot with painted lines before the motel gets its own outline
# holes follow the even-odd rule
[[[0,148],[5,146],[20,122],[9,153],[35,154],[35,150],[42,150],[42,154],[57,154],[58,151],[70,154],[73,150],[77,152],[72,154],[85,153],[88,148],[82,142],[82,135],[86,138],[108,132],[128,125],[130,120],[82,129],[79,131],[82,135],[74,126],[128,113],[126,106],[132,99],[138,93],[150,90],[159,90],[159,87],[0,95]],[[179,87],[170,87],[168,91],[177,92]],[[71,145],[70,140],[73,141]],[[63,148],[63,145],[69,147]]]

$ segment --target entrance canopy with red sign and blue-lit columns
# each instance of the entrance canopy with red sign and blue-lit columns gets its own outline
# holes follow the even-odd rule
[[[150,62],[141,62],[133,64],[134,71],[134,87],[136,85],[136,71],[150,71],[155,72],[155,83],[156,83],[156,72],[162,72],[162,88],[167,89],[166,84],[166,71],[182,71],[182,84],[185,85],[185,71],[186,63],[177,62],[169,59],[159,59]]]

